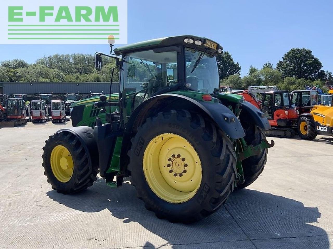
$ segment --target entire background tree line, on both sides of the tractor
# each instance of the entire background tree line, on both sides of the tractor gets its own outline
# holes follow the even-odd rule
[[[45,81],[45,82],[108,82],[115,61],[103,58],[101,72],[95,70],[94,56],[90,54],[55,54],[44,56],[29,64],[21,59],[0,63],[0,81]],[[332,73],[322,70],[322,63],[312,51],[305,48],[292,48],[276,67],[270,62],[262,68],[250,67],[247,75],[241,77],[241,66],[227,51],[217,56],[220,86],[233,89],[247,89],[248,86],[274,85],[281,90],[304,89],[306,85],[333,85]],[[326,83],[326,84],[325,84]]]

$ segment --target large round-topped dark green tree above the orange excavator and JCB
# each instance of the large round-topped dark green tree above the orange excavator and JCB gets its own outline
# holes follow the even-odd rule
[[[281,72],[282,78],[316,80],[322,78],[322,66],[310,49],[292,48],[277,63],[276,69]]]

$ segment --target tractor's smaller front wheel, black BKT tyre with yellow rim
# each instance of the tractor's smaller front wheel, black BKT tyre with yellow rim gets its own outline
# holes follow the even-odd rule
[[[55,133],[45,141],[43,150],[44,175],[57,192],[76,193],[96,181],[98,169],[89,165],[89,151],[73,133]]]

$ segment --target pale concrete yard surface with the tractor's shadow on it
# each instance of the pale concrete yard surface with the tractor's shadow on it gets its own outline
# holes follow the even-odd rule
[[[158,219],[98,179],[58,194],[42,168],[45,140],[65,124],[0,128],[0,248],[333,248],[333,138],[269,138],[268,162],[248,188],[190,225]]]

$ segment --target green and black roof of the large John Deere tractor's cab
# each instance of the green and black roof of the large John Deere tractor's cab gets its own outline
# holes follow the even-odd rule
[[[190,38],[193,41],[200,40],[202,42],[202,45],[198,46],[195,45],[194,42],[192,44],[187,44],[184,42],[185,38]],[[149,41],[141,41],[133,44],[129,44],[122,47],[117,47],[114,49],[114,52],[116,55],[123,55],[129,52],[137,51],[137,50],[144,50],[144,49],[152,49],[152,48],[158,48],[158,47],[167,47],[167,46],[177,46],[177,45],[186,45],[188,47],[192,48],[201,48],[202,50],[209,50],[213,53],[216,53],[218,49],[222,49],[221,45],[219,45],[216,41],[212,41],[217,44],[216,49],[209,48],[205,46],[206,41],[212,41],[210,39],[204,38],[204,37],[198,37],[198,36],[192,36],[192,35],[186,35],[186,36],[173,36],[173,37],[165,37],[165,38],[158,38],[154,40]]]

